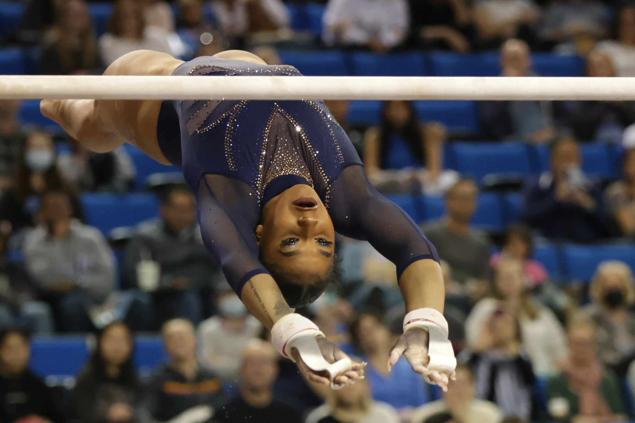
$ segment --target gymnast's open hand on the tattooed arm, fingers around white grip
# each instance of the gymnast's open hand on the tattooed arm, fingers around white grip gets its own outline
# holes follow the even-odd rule
[[[316,341],[318,341],[318,346],[322,355],[324,356],[324,360],[329,363],[335,363],[335,361],[342,360],[342,358],[349,358],[341,349],[338,348],[337,345],[333,344],[333,342],[329,341],[324,337],[317,337]],[[291,355],[293,356],[293,360],[298,365],[298,369],[311,382],[316,382],[318,384],[328,385],[331,381],[328,379],[328,374],[326,372],[314,372],[309,368],[302,358],[300,358],[300,353],[298,350],[293,348],[291,349]],[[352,361],[352,360],[351,360]],[[352,361],[352,368],[348,372],[344,374],[338,375],[333,378],[333,384],[337,386],[345,386],[349,384],[354,384],[358,379],[363,379],[364,377],[364,367],[366,363],[356,363]]]

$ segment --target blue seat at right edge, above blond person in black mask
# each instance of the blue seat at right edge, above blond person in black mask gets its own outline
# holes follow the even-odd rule
[[[563,253],[566,272],[571,280],[590,280],[598,264],[606,260],[624,261],[635,272],[635,245],[567,245]]]

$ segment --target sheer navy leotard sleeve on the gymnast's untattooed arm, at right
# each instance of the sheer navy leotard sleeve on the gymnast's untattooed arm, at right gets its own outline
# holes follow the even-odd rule
[[[349,166],[331,187],[330,214],[335,230],[351,238],[367,240],[397,266],[397,277],[421,259],[439,261],[434,245],[418,225],[377,192],[361,166]]]

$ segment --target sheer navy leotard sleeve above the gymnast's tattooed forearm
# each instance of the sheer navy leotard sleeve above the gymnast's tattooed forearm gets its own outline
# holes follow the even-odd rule
[[[203,242],[241,296],[250,278],[269,273],[258,260],[253,235],[259,211],[256,195],[237,179],[206,174],[199,181],[196,204]]]

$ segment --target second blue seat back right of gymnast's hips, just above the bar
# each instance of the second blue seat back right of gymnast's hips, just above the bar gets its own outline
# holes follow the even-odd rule
[[[424,76],[424,56],[418,51],[375,55],[366,51],[352,53],[353,74],[358,76]]]

